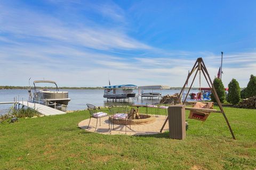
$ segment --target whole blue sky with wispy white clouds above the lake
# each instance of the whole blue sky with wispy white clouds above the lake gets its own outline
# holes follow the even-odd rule
[[[211,78],[256,74],[255,1],[1,1],[0,85],[183,85],[197,57]],[[202,81],[203,82],[203,81]],[[198,86],[198,81],[195,87]],[[202,83],[206,86],[206,83]]]

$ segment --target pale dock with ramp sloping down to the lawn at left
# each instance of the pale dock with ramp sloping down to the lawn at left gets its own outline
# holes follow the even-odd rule
[[[49,107],[49,106],[45,106],[45,105],[41,105],[38,103],[31,103],[28,101],[4,101],[4,102],[0,102],[0,104],[20,104],[29,108],[33,108],[36,109],[37,112],[45,115],[45,116],[50,116],[50,115],[60,115],[60,114],[65,114],[66,112],[63,111],[59,111],[58,109]]]

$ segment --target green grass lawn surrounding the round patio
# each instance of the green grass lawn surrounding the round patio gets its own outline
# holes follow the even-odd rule
[[[256,110],[224,109],[237,140],[218,113],[187,119],[185,140],[86,132],[87,111],[21,118],[0,124],[0,169],[255,169]]]

